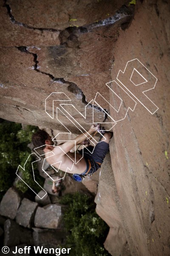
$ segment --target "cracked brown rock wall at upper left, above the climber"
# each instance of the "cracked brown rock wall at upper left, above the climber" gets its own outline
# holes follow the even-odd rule
[[[76,4],[76,2],[77,1],[71,3],[71,6],[72,4]],[[10,29],[12,29],[10,31],[7,27],[3,27],[2,33],[5,34],[5,36],[14,33],[16,35],[16,44],[14,45],[14,41],[10,41],[7,44],[3,42],[2,48],[0,48],[0,116],[3,118],[8,116],[8,119],[16,122],[42,125],[43,127],[67,131],[56,118],[52,119],[45,114],[45,99],[53,92],[65,93],[67,96],[62,95],[62,97],[59,97],[57,95],[59,101],[55,102],[55,107],[59,106],[61,103],[60,100],[67,100],[69,97],[71,100],[70,103],[74,104],[74,107],[81,113],[85,112],[87,101],[91,102],[97,91],[104,93],[103,96],[109,100],[108,88],[105,90],[102,89],[103,84],[111,79],[110,70],[113,64],[113,53],[111,54],[111,50],[116,42],[119,26],[122,23],[129,22],[132,13],[126,7],[116,12],[116,9],[119,9],[124,1],[119,1],[116,5],[112,5],[112,1],[107,1],[107,3],[97,3],[96,1],[92,3],[89,1],[89,3],[87,3],[85,1],[79,3],[77,6],[76,12],[79,13],[80,10],[84,10],[85,5],[87,6],[84,11],[85,13],[88,12],[86,16],[84,16],[84,11],[79,13],[79,15],[83,17],[82,20],[77,18],[77,20],[79,20],[79,25],[77,26],[79,27],[68,26],[68,28],[60,32],[57,30],[56,32],[53,31],[53,29],[56,29],[54,28],[54,23],[55,26],[58,26],[58,22],[64,22],[64,16],[68,14],[71,15],[73,10],[75,15],[75,8],[72,6],[71,11],[68,6],[69,11],[65,11],[64,13],[61,11],[60,15],[63,15],[63,17],[60,19],[57,18],[55,12],[55,8],[57,8],[56,2],[51,0],[51,3],[53,3],[52,6],[48,5],[49,13],[44,16],[43,12],[43,18],[42,9],[43,6],[46,5],[46,1],[43,2],[41,7],[37,2],[34,2],[31,9],[34,9],[35,12],[37,8],[42,8],[38,12],[40,15],[39,19],[37,19],[36,15],[36,26],[41,26],[41,23],[43,23],[44,26],[49,26],[50,24],[52,30],[47,28],[35,29],[34,12],[31,11],[30,7],[28,11],[27,7],[25,5],[23,6],[22,1],[20,2],[22,8],[18,8],[17,2],[14,3],[13,1],[7,2],[2,7],[3,14],[5,15],[4,20],[10,23],[11,19]],[[63,2],[62,5],[65,5],[65,3],[66,2]],[[31,6],[31,3],[28,3],[28,5]],[[12,12],[10,6],[12,6]],[[93,6],[95,9],[93,9]],[[60,8],[63,7],[60,5]],[[90,18],[91,12],[89,12],[88,9],[91,10],[91,12],[95,12],[92,20]],[[108,9],[109,13],[108,11],[106,12]],[[25,12],[26,14],[24,15]],[[57,9],[57,13],[59,12],[60,10]],[[14,17],[11,17],[11,15],[14,15]],[[17,22],[15,21],[15,16],[16,20],[18,18]],[[47,17],[49,23],[46,22]],[[64,23],[62,25],[64,27],[67,26],[67,24],[64,25]],[[23,29],[23,33],[17,31],[18,27]],[[5,33],[4,30],[8,32]],[[22,41],[20,38],[26,38],[24,35],[25,30],[30,31],[30,39],[28,39],[30,41],[32,32],[41,32],[42,35],[43,33],[54,32],[53,36],[55,36],[56,33],[58,36],[59,32],[60,43],[56,40],[54,45],[54,42],[48,41],[48,36],[44,35],[45,40],[48,41],[48,43],[46,43],[44,40],[44,47],[41,42],[42,38],[40,38],[39,42],[32,40],[32,44],[30,45],[29,42]],[[36,40],[38,40],[38,36]],[[7,49],[5,47],[8,46],[8,44],[11,44],[10,46],[17,46],[18,48],[10,47]],[[12,62],[11,58],[13,59]],[[51,104],[54,99],[56,100],[56,94],[55,97],[49,98],[46,104],[46,110],[50,115],[53,113]],[[105,108],[109,111],[109,105],[105,105]],[[66,111],[70,111],[73,118],[83,125],[85,129],[89,128],[89,124],[87,123],[93,122],[91,105],[88,105],[87,110],[85,119],[74,108],[66,109]],[[54,114],[56,116],[56,111]],[[94,109],[95,122],[103,122],[106,118],[107,115],[105,112],[101,111],[100,108]],[[59,119],[62,120],[62,123],[66,125],[71,132],[80,132],[73,123],[68,121],[68,118],[65,117],[63,113],[59,116]],[[108,128],[111,127],[109,124],[105,124],[105,126]]]

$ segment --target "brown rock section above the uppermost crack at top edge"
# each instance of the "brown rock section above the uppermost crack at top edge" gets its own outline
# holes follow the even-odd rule
[[[59,30],[103,20],[114,15],[124,3],[124,0],[114,4],[112,0],[17,0],[15,3],[12,0],[7,1],[12,10],[11,14],[18,22],[34,28]]]

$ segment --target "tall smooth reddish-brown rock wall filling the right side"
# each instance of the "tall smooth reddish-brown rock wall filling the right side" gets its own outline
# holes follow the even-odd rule
[[[117,206],[133,255],[170,254],[169,15],[169,1],[138,2],[135,19],[129,29],[120,31],[115,49],[113,79],[134,58],[158,79],[146,95],[159,110],[152,115],[138,102],[135,110],[128,111],[126,118],[113,128],[114,142],[110,145],[119,196]],[[126,80],[128,76],[131,74]],[[111,113],[113,116],[113,110]]]

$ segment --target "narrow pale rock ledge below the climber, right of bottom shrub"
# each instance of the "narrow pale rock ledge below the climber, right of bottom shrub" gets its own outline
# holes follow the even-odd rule
[[[105,248],[111,255],[122,255],[127,239],[116,207],[115,201],[118,198],[116,197],[115,187],[111,156],[108,153],[100,170],[99,186],[95,198],[96,212],[110,227],[104,244]]]

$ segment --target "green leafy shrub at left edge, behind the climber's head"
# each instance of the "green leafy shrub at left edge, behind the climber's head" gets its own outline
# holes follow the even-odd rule
[[[37,127],[32,125],[27,125],[26,130],[22,130],[22,126],[19,123],[8,122],[6,120],[0,123],[0,198],[12,186],[16,178],[18,166],[21,165],[23,167],[29,154],[31,154],[31,150],[27,147],[27,144],[31,142],[31,136],[36,130]],[[29,161],[32,160],[30,158]],[[32,185],[34,182],[32,168],[30,164],[28,166],[22,175],[26,183]],[[37,169],[35,167],[36,171]],[[42,181],[42,177],[37,175],[37,182],[42,184]],[[20,180],[17,183],[17,188],[22,192],[26,192],[28,186]],[[38,188],[39,186],[35,184],[35,189]]]

